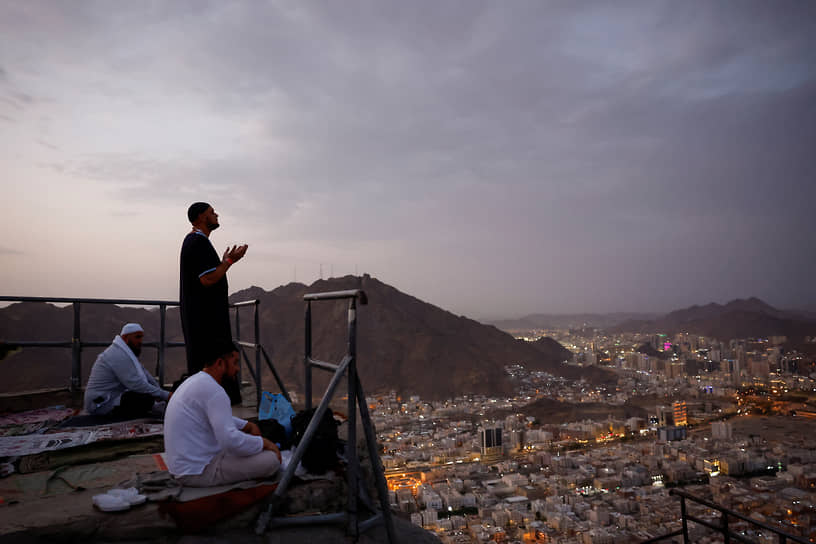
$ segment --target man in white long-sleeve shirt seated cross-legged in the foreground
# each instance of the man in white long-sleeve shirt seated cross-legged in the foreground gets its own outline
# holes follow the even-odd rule
[[[240,364],[230,341],[216,343],[204,369],[173,393],[164,418],[167,468],[183,485],[210,487],[268,478],[280,468],[280,451],[252,422],[233,417],[220,385]]]

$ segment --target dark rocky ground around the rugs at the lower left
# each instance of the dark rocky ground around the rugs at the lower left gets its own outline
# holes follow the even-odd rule
[[[239,409],[239,407],[236,407]],[[247,416],[252,410],[236,415]],[[345,425],[340,427],[341,437]],[[358,436],[362,431],[358,432]],[[102,449],[104,446],[100,445]],[[63,450],[65,451],[65,450]],[[364,462],[365,454],[360,451]],[[93,453],[93,452],[92,452]],[[255,522],[264,505],[219,522],[201,534],[185,534],[169,517],[162,517],[157,503],[147,502],[125,512],[105,513],[94,508],[92,497],[130,480],[135,473],[157,470],[152,454],[126,455],[116,459],[91,455],[90,462],[72,458],[72,465],[0,479],[0,542],[160,542],[160,543],[290,543],[351,542],[343,525],[310,525],[274,528],[255,535]],[[100,460],[105,459],[105,460]],[[371,492],[372,490],[370,490]],[[290,486],[281,509],[289,516],[344,511],[345,479],[299,482]],[[395,518],[398,542],[438,543],[431,533]],[[384,527],[360,535],[361,543],[388,542]]]

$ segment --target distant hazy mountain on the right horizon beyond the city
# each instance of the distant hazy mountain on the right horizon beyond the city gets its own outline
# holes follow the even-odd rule
[[[688,332],[720,340],[787,336],[795,343],[804,336],[816,335],[816,319],[749,298],[732,300],[725,305],[691,306],[650,321],[628,321],[612,327],[609,332]]]

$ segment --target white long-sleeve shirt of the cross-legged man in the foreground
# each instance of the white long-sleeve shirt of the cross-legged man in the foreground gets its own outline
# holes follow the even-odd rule
[[[239,457],[260,453],[263,439],[241,431],[246,424],[233,417],[226,391],[212,376],[203,370],[190,376],[170,397],[164,414],[170,474],[201,474],[222,450]]]

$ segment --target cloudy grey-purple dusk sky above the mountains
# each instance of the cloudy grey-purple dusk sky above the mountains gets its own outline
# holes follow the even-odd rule
[[[816,306],[813,2],[0,0],[0,291]]]

